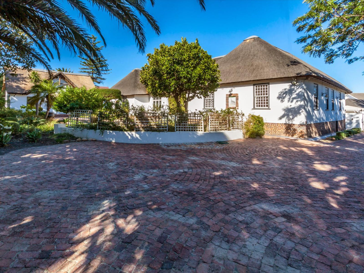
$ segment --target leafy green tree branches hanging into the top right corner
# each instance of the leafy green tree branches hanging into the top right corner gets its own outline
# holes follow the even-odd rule
[[[296,40],[304,44],[303,52],[324,56],[326,63],[336,58],[348,63],[364,60],[353,56],[364,41],[364,2],[360,0],[306,0],[309,11],[293,21],[297,32],[305,35]]]

